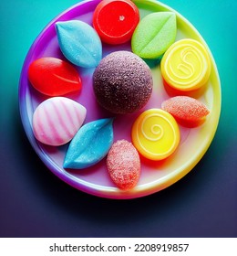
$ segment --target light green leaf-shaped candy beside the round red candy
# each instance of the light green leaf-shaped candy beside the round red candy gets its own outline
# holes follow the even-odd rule
[[[131,38],[132,51],[144,59],[158,59],[175,41],[176,16],[157,12],[145,16]]]

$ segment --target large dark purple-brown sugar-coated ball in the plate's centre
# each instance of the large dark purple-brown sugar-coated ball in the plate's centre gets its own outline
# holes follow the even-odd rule
[[[98,103],[113,113],[139,111],[152,92],[149,66],[129,51],[116,51],[102,59],[93,74]]]

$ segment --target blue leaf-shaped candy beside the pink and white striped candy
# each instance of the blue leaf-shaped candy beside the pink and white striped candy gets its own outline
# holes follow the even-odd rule
[[[83,169],[102,160],[113,144],[112,123],[106,118],[82,126],[69,144],[64,167]]]

